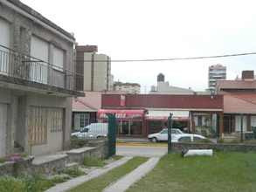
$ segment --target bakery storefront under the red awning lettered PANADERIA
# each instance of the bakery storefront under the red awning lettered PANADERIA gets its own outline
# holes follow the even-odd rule
[[[144,110],[109,110],[100,109],[97,112],[97,120],[107,122],[107,113],[114,113],[117,120],[116,134],[142,136],[144,127]]]

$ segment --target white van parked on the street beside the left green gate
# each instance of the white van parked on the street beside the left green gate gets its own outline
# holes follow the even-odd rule
[[[73,139],[93,140],[99,137],[107,137],[108,123],[91,123],[79,132],[71,134]]]

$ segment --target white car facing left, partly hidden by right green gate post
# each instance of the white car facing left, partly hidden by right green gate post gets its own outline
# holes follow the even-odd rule
[[[178,128],[171,129],[171,138],[179,134],[183,134],[183,132]],[[168,128],[164,128],[161,132],[156,134],[149,134],[148,140],[151,142],[168,141]]]

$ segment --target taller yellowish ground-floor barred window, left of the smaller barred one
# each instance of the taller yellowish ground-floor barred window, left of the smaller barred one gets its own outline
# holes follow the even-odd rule
[[[46,143],[47,108],[30,107],[30,141],[31,144]]]

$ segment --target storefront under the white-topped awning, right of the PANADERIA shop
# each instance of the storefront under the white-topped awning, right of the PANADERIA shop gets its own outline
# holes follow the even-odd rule
[[[145,114],[147,122],[148,134],[157,133],[164,127],[167,127],[168,118],[171,115],[171,126],[185,131],[190,125],[190,112],[189,111],[172,111],[172,110],[149,110]]]

